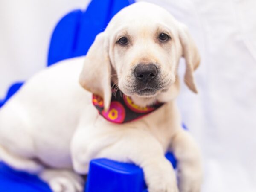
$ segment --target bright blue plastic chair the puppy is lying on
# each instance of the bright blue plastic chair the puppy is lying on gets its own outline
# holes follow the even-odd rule
[[[87,10],[75,10],[64,16],[54,29],[50,41],[47,66],[58,61],[86,55],[99,32],[104,31],[113,15],[134,0],[92,0]],[[0,107],[20,87],[14,84],[0,101]],[[176,167],[171,153],[166,158]],[[17,172],[0,163],[0,191],[2,192],[50,192],[49,186],[34,175]],[[90,162],[86,192],[146,192],[143,171],[129,163],[108,159]]]

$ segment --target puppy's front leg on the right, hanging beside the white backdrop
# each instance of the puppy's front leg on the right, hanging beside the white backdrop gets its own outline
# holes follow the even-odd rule
[[[202,184],[201,155],[193,138],[180,128],[172,138],[171,148],[177,159],[180,192],[200,192]]]

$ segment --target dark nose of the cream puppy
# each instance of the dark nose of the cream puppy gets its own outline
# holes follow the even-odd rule
[[[149,82],[157,76],[157,67],[154,64],[138,64],[134,74],[137,79]]]

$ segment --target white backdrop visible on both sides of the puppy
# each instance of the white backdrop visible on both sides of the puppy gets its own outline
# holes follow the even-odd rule
[[[201,52],[200,94],[183,86],[178,102],[202,149],[203,192],[256,192],[256,1],[148,1],[185,23]],[[0,1],[0,98],[10,84],[46,66],[55,24],[87,3]]]

